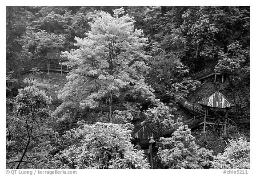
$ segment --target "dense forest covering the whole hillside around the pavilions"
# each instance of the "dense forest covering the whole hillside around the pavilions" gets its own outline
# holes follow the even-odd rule
[[[250,169],[250,7],[6,6],[6,169]]]

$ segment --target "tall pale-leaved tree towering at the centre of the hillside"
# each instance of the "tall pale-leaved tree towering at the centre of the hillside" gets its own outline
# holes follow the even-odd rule
[[[120,8],[113,16],[102,11],[92,15],[86,38],[76,37],[78,49],[65,52],[69,59],[66,65],[75,69],[59,94],[64,101],[76,99],[82,106],[108,107],[110,122],[113,103],[122,104],[122,90],[129,94],[136,88],[142,97],[153,95],[143,77],[148,71],[144,62],[148,56],[143,51],[147,39],[141,30],[134,29],[134,20],[123,14]]]

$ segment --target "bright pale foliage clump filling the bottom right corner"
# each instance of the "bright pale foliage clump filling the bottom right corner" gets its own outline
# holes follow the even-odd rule
[[[250,142],[245,138],[229,139],[223,154],[214,156],[214,169],[250,169]]]

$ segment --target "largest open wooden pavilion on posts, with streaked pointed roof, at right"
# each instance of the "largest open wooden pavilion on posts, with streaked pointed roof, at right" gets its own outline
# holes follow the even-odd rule
[[[233,101],[217,91],[213,93],[210,97],[207,97],[204,100],[199,101],[198,103],[202,105],[205,109],[203,132],[206,132],[206,124],[216,124],[216,121],[220,121],[218,125],[224,126],[225,136],[227,133],[228,109],[235,106],[233,104]],[[211,116],[213,118],[211,118]]]

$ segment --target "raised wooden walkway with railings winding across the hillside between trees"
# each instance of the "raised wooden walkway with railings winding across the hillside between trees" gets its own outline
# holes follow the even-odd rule
[[[32,72],[33,68],[41,70],[41,71],[57,71],[57,72],[60,72],[61,74],[68,73],[72,70],[71,68],[68,68],[67,66],[62,66],[62,65],[58,65],[58,64],[54,64],[54,65],[53,64],[50,64],[50,65],[39,65],[39,64],[35,65],[34,64],[34,65],[25,66],[21,74]],[[208,69],[200,71],[196,74],[193,74],[190,77],[192,79],[201,80],[201,79],[207,78],[207,77],[215,75],[215,74],[221,74],[221,73],[215,73],[215,72],[213,72],[213,68],[208,68]],[[193,116],[195,116],[194,118],[192,118],[184,123],[184,124],[188,125],[189,128],[194,128],[200,124],[203,124],[204,110],[202,110],[201,108],[199,108],[195,105],[188,103],[185,99],[175,99],[175,97],[168,95],[168,93],[167,93],[168,88],[166,88],[164,86],[158,85],[149,80],[145,80],[145,82],[148,83],[149,85],[151,85],[153,89],[155,89],[156,98],[161,99],[161,100],[166,100],[168,98],[171,98],[171,99],[175,100],[176,103],[178,105],[180,105],[183,109],[185,109],[186,111],[191,113]],[[141,101],[141,105],[148,105],[149,103],[150,103],[149,101]],[[113,109],[112,109],[113,111],[126,109],[124,107],[124,105],[122,105],[122,104],[112,105],[112,107],[113,107]],[[108,112],[109,109],[108,109],[108,106],[102,106],[102,107],[95,108],[94,110],[99,111],[99,112],[100,111]],[[77,109],[76,110],[76,113],[74,114],[74,116],[72,118],[72,122],[70,123],[69,128],[76,127],[77,121],[81,120],[81,118],[85,114],[85,111],[86,111],[85,109]],[[233,123],[233,124],[250,124],[250,116],[229,116],[228,121],[229,121],[229,123]],[[163,132],[163,136],[170,135],[176,129],[177,129],[176,127],[166,129]]]

